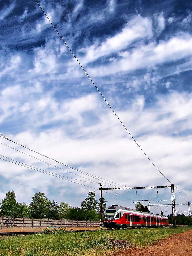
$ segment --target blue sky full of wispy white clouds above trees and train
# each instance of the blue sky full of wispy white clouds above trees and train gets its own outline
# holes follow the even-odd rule
[[[13,190],[30,203],[40,191],[76,207],[89,191],[98,200],[102,183],[174,184],[175,203],[191,202],[191,1],[39,4],[166,178],[36,1],[0,1],[0,200]],[[170,188],[103,196],[130,208],[171,203]],[[171,206],[150,207],[161,210]]]

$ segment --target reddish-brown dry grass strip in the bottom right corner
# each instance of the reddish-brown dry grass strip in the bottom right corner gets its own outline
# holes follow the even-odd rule
[[[175,234],[153,246],[128,248],[114,256],[192,256],[192,231]]]

